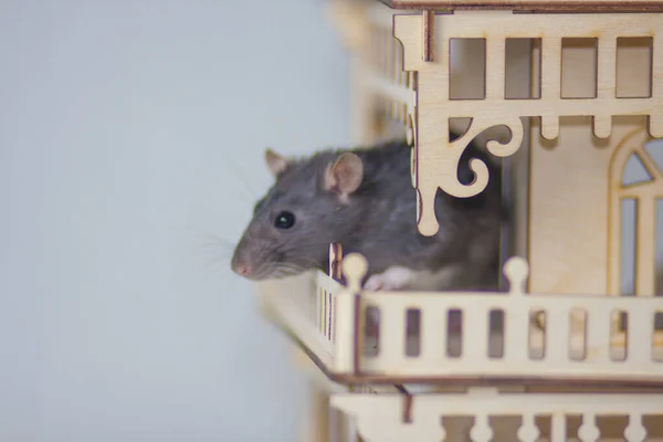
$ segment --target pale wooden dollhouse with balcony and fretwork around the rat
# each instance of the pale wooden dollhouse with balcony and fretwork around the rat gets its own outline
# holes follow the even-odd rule
[[[303,440],[663,441],[663,1],[329,12],[351,53],[356,141],[411,145],[420,233],[438,230],[439,188],[485,187],[480,160],[457,180],[472,139],[503,158],[514,222],[496,293],[365,292],[366,260],[343,244],[328,273],[262,284],[314,382]]]

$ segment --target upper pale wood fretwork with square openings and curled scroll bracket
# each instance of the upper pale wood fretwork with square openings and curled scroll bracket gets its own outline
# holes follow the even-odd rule
[[[565,25],[558,23],[564,21]],[[556,138],[562,116],[591,116],[599,138],[610,135],[612,116],[642,115],[649,131],[663,137],[663,14],[513,14],[509,11],[463,11],[454,14],[396,14],[394,36],[403,46],[403,69],[415,72],[417,128],[414,137],[413,182],[418,190],[418,227],[434,235],[439,223],[434,214],[438,189],[469,198],[482,192],[488,171],[478,160],[471,161],[475,181],[462,185],[457,162],[474,136],[494,126],[507,126],[512,139],[502,146],[488,143],[498,157],[513,155],[523,141],[522,117],[540,117],[541,136]],[[432,30],[435,30],[433,33]],[[423,35],[423,38],[422,38]],[[566,36],[598,38],[598,95],[593,99],[561,98],[561,40]],[[618,98],[614,69],[618,38],[650,35],[653,40],[652,94],[644,98]],[[451,39],[484,39],[486,42],[485,97],[450,98]],[[541,96],[539,99],[505,99],[506,39],[541,39]],[[449,143],[450,118],[473,118],[471,130]]]

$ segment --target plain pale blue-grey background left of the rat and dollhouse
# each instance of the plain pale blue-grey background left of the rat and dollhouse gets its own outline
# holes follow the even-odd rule
[[[296,439],[304,379],[212,236],[265,146],[349,141],[323,3],[0,3],[0,441]]]

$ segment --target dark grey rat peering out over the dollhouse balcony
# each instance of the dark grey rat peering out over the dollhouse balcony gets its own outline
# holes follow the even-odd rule
[[[450,134],[453,140],[457,136]],[[472,158],[490,169],[486,189],[472,198],[439,190],[433,236],[417,230],[411,148],[404,140],[371,148],[326,149],[287,159],[265,150],[274,185],[257,201],[236,244],[232,270],[263,281],[328,267],[329,243],[369,263],[364,287],[394,290],[497,290],[502,207],[501,168],[474,143],[459,164],[470,183]]]

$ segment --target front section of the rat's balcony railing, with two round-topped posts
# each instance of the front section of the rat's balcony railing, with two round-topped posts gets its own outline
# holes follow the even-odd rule
[[[530,373],[555,379],[572,379],[588,376],[602,379],[660,382],[663,387],[663,361],[654,360],[655,350],[652,312],[663,311],[663,297],[607,297],[607,296],[549,296],[528,294],[525,291],[527,263],[512,259],[505,264],[505,275],[511,282],[508,295],[485,293],[423,293],[423,292],[359,292],[359,281],[366,272],[362,256],[350,254],[344,260],[344,274],[349,287],[336,295],[337,327],[346,330],[337,335],[334,371],[355,373],[351,355],[356,343],[352,317],[356,293],[360,293],[360,308],[375,306],[380,311],[380,337],[388,343],[375,357],[360,359],[359,373],[394,378],[444,379],[456,376],[475,378],[526,378]],[[340,307],[343,305],[343,307]],[[573,325],[571,313],[581,307],[587,317],[585,327]],[[406,355],[406,311],[418,308],[421,316],[421,351],[417,357]],[[460,357],[444,352],[445,315],[451,308],[463,312],[462,327],[472,330],[464,335]],[[505,313],[504,356],[490,356],[494,340],[488,334],[488,311],[499,308]],[[537,333],[529,327],[529,312],[546,312],[545,344],[540,360],[533,360],[532,350],[539,345],[527,344],[524,336]],[[617,360],[609,327],[611,313],[624,311],[636,318],[630,324],[628,351],[624,360]],[[343,312],[343,313],[341,313]],[[580,343],[585,343],[580,345]],[[446,344],[449,345],[449,344]],[[659,344],[661,345],[661,344]],[[578,355],[578,351],[581,355]],[[581,361],[581,364],[578,362]],[[591,375],[590,375],[591,373]]]

